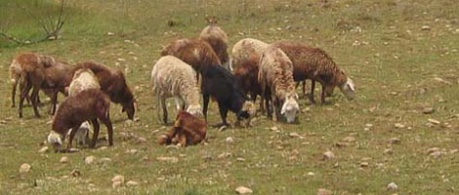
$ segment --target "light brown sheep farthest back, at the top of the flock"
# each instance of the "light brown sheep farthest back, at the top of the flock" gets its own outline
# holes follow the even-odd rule
[[[230,58],[228,55],[228,35],[217,25],[215,17],[207,17],[209,23],[199,35],[199,40],[206,41],[217,54],[223,67],[230,70]]]

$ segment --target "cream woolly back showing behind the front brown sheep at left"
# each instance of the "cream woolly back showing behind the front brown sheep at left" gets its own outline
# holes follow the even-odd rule
[[[86,68],[79,69],[73,75],[69,85],[69,96],[75,96],[85,89],[100,89],[96,75]]]

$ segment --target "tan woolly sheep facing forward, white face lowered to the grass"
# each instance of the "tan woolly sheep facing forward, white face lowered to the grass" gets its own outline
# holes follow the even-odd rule
[[[282,114],[288,123],[293,123],[299,111],[298,95],[295,92],[292,62],[282,50],[273,46],[264,50],[260,59],[258,81],[262,87],[262,100],[266,99],[268,116],[273,112],[273,121],[278,121]],[[270,101],[272,109],[269,106]]]

